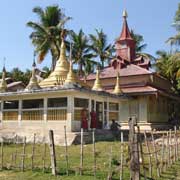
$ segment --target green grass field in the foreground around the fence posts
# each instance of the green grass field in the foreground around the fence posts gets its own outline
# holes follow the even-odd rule
[[[120,159],[120,142],[98,142],[96,143],[96,158],[97,158],[97,176],[96,179],[107,179],[108,173],[110,172],[110,151],[112,147],[112,172],[113,179],[119,179],[119,159]],[[43,161],[44,156],[44,146],[37,144],[35,146],[35,159],[34,159],[34,169],[31,170],[31,156],[32,145],[27,145],[26,147],[26,157],[25,157],[25,171],[21,172],[21,159],[22,156],[17,156],[16,164],[12,160],[12,153],[16,151],[16,146],[13,144],[6,144],[4,146],[4,169],[0,171],[0,180],[91,180],[94,179],[93,176],[93,151],[92,145],[84,146],[84,167],[83,176],[79,175],[79,164],[80,164],[80,146],[72,145],[68,148],[69,154],[69,176],[66,175],[66,161],[65,161],[65,148],[56,147],[56,157],[57,157],[57,169],[58,176],[54,177],[51,175],[50,169],[50,159],[49,159],[49,149],[47,147],[46,152],[46,169],[43,172]],[[18,145],[17,153],[22,154],[22,145]],[[129,179],[129,161],[128,161],[128,146],[124,145],[124,180]],[[1,161],[1,160],[0,160]],[[0,162],[1,164],[1,162]],[[16,168],[15,168],[16,166]],[[5,168],[6,167],[6,168]],[[163,173],[161,178],[156,177],[156,168],[153,168],[153,176],[156,180],[175,180],[178,178],[178,169],[180,169],[180,162],[174,164],[168,169],[166,173]],[[147,167],[148,170],[148,167]],[[148,172],[147,172],[148,173]],[[142,178],[143,179],[143,178]]]

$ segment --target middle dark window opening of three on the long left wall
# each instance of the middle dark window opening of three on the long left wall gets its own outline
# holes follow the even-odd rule
[[[23,109],[43,108],[43,99],[23,100]]]

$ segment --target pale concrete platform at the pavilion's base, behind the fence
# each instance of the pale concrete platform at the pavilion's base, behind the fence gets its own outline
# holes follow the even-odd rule
[[[56,145],[65,145],[65,134],[64,129],[53,130],[54,141]],[[36,143],[48,143],[49,142],[49,130],[42,128],[1,128],[0,129],[0,141],[14,142],[17,136],[18,143],[22,143],[24,137],[26,137],[27,143],[32,143],[34,140],[34,134],[36,134]],[[126,133],[127,134],[127,133]],[[92,143],[92,131],[84,132],[84,143]],[[96,141],[112,141],[114,136],[110,130],[95,130]],[[80,132],[67,132],[67,143],[68,145],[80,144],[81,133]]]

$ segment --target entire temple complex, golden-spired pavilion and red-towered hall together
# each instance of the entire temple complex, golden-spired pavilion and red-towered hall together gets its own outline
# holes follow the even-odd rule
[[[24,89],[7,89],[5,68],[0,82],[2,129],[80,131],[84,111],[90,128],[90,112],[95,111],[97,128],[108,128],[111,120],[127,128],[129,117],[136,117],[141,129],[165,128],[180,98],[171,84],[150,71],[150,60],[137,55],[136,43],[123,12],[123,28],[115,42],[116,56],[104,69],[87,76],[86,83],[67,60],[64,36],[54,71],[40,83],[32,65],[32,77]]]

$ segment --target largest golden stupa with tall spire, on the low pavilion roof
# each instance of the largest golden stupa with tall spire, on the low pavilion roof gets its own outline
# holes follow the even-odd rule
[[[60,56],[56,62],[56,66],[54,71],[49,75],[48,78],[44,79],[40,82],[41,87],[54,87],[57,85],[63,85],[67,74],[69,72],[69,62],[66,59],[66,46],[65,46],[65,31],[61,33],[61,49],[60,49]]]

